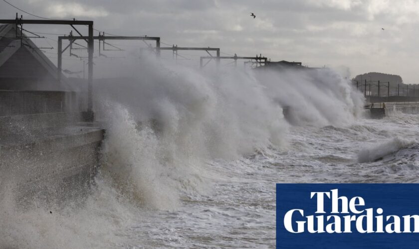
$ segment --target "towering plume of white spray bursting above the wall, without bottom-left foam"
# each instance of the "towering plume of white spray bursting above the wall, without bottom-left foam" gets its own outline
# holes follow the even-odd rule
[[[282,107],[293,125],[347,125],[363,102],[328,69],[203,72],[148,61],[136,74],[95,85],[108,125],[103,167],[158,209],[176,208],[182,191],[206,191],[207,162],[286,145]]]

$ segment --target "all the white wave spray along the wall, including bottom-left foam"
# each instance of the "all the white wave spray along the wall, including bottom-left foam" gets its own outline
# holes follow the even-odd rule
[[[94,86],[106,134],[85,208],[20,211],[5,181],[12,178],[0,175],[0,247],[121,247],[125,237],[116,234],[141,223],[139,210],[173,210],[183,194],[211,191],[222,177],[212,162],[287,146],[282,107],[291,107],[292,125],[314,126],[350,125],[362,107],[362,96],[330,70],[205,72],[152,58],[129,65],[129,78]]]

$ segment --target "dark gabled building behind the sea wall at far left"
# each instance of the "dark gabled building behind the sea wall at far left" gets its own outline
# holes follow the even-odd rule
[[[69,90],[57,67],[14,24],[0,25],[0,90]]]

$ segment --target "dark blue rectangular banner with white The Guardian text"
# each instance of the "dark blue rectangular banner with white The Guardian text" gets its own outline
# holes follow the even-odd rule
[[[278,249],[419,248],[419,184],[276,184]]]

